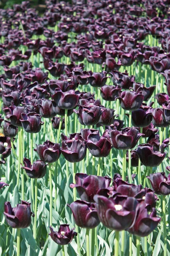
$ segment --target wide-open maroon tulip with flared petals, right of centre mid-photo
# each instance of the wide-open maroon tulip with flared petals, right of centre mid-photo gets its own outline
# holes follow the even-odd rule
[[[106,137],[114,148],[132,149],[142,134],[135,128],[123,128],[122,131],[106,130],[103,137]]]

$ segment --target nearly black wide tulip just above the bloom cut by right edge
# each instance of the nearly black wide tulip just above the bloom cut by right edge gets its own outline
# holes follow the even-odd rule
[[[141,144],[135,151],[138,154],[141,163],[144,166],[149,167],[159,166],[166,156],[166,153],[164,152],[153,151],[153,146],[150,144]]]

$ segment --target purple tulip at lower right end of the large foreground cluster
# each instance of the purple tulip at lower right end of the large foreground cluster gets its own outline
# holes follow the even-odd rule
[[[137,216],[133,227],[127,231],[136,236],[148,236],[159,224],[161,218],[156,216],[156,209],[152,208],[150,215],[145,208],[145,202],[141,201],[137,207]]]

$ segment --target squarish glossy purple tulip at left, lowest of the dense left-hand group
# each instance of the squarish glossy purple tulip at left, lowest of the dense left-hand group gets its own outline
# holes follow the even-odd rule
[[[22,113],[20,121],[22,123],[23,129],[28,133],[37,133],[41,130],[41,126],[44,122],[41,122],[41,116],[30,112],[28,114]]]

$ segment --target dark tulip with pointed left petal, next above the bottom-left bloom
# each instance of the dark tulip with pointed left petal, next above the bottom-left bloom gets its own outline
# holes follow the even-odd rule
[[[45,163],[41,160],[37,160],[33,162],[31,165],[31,161],[26,157],[23,159],[23,169],[26,170],[26,174],[33,179],[40,179],[46,174],[46,166]]]

